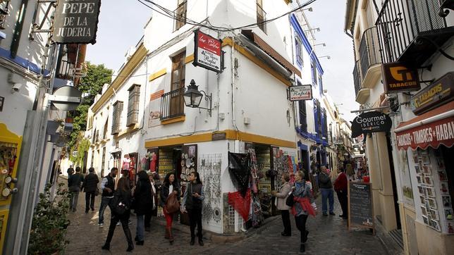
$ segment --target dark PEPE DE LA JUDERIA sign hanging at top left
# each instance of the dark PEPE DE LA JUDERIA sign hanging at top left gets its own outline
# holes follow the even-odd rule
[[[55,10],[57,44],[94,44],[101,0],[59,0]]]

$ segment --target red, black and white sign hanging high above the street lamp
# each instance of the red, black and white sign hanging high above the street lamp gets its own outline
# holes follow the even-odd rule
[[[192,65],[200,66],[216,73],[222,73],[223,56],[222,40],[194,31],[194,61]]]

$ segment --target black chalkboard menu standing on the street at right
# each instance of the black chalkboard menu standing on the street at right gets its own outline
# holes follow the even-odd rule
[[[348,227],[374,229],[374,210],[371,184],[348,183]]]

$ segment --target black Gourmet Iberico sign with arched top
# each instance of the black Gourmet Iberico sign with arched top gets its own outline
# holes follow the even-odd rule
[[[379,111],[362,113],[352,121],[352,138],[373,132],[389,132],[393,125],[391,118]]]

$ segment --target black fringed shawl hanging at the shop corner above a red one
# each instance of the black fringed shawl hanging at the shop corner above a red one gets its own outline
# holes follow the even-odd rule
[[[228,173],[233,186],[245,197],[249,187],[249,154],[228,153]]]

